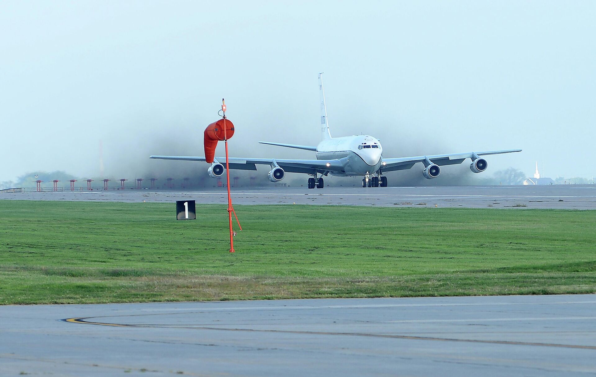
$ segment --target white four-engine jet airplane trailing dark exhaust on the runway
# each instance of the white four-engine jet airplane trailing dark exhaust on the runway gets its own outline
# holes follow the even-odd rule
[[[323,177],[329,174],[338,177],[364,177],[362,187],[387,187],[387,177],[383,174],[390,171],[406,170],[418,162],[423,163],[422,174],[424,178],[432,180],[439,177],[440,166],[457,165],[465,159],[471,159],[470,170],[474,173],[486,171],[488,163],[480,156],[489,154],[502,154],[521,152],[521,149],[493,150],[489,152],[464,152],[433,154],[429,156],[414,157],[383,157],[383,147],[380,141],[370,135],[354,135],[346,137],[331,137],[327,120],[327,106],[325,105],[325,90],[323,88],[322,73],[319,73],[319,94],[321,96],[321,137],[322,141],[315,146],[302,146],[296,144],[271,143],[259,141],[260,144],[269,144],[294,149],[310,150],[315,152],[314,160],[295,159],[262,159],[240,158],[229,159],[230,169],[256,170],[256,165],[269,165],[269,181],[279,182],[284,179],[286,172],[303,173],[312,175],[308,178],[308,188],[323,188]],[[204,156],[150,156],[152,159],[205,161]],[[212,178],[224,174],[225,157],[217,157],[207,169]],[[320,176],[319,176],[320,175]]]

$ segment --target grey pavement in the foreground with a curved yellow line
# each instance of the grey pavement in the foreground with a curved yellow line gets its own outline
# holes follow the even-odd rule
[[[596,295],[0,307],[0,375],[588,376]]]

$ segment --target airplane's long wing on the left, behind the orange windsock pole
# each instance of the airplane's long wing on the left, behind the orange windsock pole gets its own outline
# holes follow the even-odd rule
[[[185,160],[204,161],[204,156],[150,156],[151,159],[162,160]],[[223,163],[225,157],[216,157],[213,162]],[[289,173],[313,174],[315,171],[327,175],[331,171],[342,171],[344,169],[341,160],[286,160],[286,159],[244,159],[238,157],[229,158],[230,169],[256,170],[256,165],[280,166]]]

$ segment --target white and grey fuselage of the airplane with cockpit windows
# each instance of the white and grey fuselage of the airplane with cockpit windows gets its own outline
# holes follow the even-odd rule
[[[340,177],[374,174],[381,166],[382,156],[380,141],[370,135],[325,139],[316,146],[316,159],[343,162],[344,171],[330,172]]]

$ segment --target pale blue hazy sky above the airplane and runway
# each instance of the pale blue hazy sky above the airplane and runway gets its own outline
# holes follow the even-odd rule
[[[257,141],[318,143],[323,71],[331,134],[386,157],[521,148],[489,171],[591,178],[594,20],[594,1],[2,1],[0,181],[97,176],[100,140],[110,176],[202,155],[222,97],[232,156],[312,158]]]

